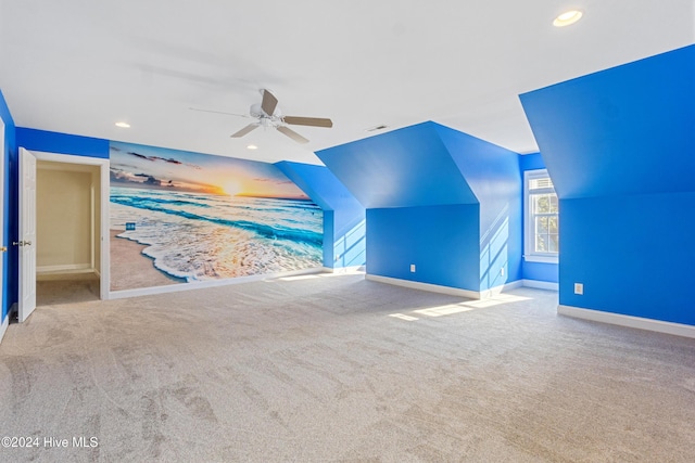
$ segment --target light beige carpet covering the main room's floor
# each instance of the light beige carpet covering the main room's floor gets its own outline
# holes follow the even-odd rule
[[[695,340],[556,307],[363,275],[39,307],[0,344],[0,423],[40,446],[0,460],[693,461]]]

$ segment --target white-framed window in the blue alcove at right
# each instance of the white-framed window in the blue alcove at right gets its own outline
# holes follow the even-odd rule
[[[559,254],[559,204],[547,170],[523,176],[526,242],[523,258],[557,263]]]

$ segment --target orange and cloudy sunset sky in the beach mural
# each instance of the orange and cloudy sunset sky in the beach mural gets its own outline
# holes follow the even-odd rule
[[[271,164],[111,142],[111,183],[208,194],[305,200]]]

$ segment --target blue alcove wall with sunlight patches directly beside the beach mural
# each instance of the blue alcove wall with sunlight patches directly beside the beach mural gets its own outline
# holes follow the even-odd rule
[[[324,166],[283,160],[276,166],[324,210],[324,267],[366,262],[365,208]]]

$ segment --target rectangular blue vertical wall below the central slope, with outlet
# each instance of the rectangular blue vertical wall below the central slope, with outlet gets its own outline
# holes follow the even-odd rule
[[[368,209],[367,270],[479,291],[479,217],[477,204]]]

